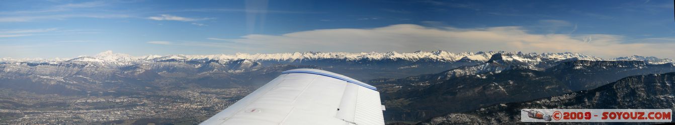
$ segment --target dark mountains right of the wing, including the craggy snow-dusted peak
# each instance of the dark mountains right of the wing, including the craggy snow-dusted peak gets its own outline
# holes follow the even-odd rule
[[[566,59],[547,62],[522,61],[534,59],[520,56],[494,54],[480,65],[437,74],[369,82],[378,87],[382,94],[382,100],[387,106],[387,120],[415,122],[495,103],[526,101],[592,89],[631,75],[675,71],[675,67],[670,64],[650,65],[638,60]],[[551,64],[557,65],[549,66]]]

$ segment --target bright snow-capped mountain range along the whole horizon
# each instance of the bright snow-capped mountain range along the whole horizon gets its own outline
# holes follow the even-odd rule
[[[65,58],[0,58],[0,63],[58,63],[58,62],[95,62],[95,63],[111,63],[117,62],[119,64],[128,64],[131,62],[145,62],[145,61],[163,61],[163,60],[177,60],[177,61],[198,61],[198,60],[254,60],[254,61],[302,61],[302,60],[321,60],[321,59],[338,59],[338,60],[435,60],[441,62],[455,62],[458,60],[476,60],[486,62],[493,54],[506,53],[504,60],[518,60],[520,62],[538,62],[541,60],[645,60],[650,64],[664,64],[675,63],[675,60],[656,58],[654,56],[626,56],[618,58],[599,58],[587,54],[562,52],[562,53],[523,53],[523,52],[504,52],[504,51],[489,51],[489,52],[447,52],[443,50],[436,50],[432,52],[293,52],[293,53],[274,53],[274,54],[208,54],[208,55],[184,55],[173,54],[167,56],[148,55],[148,56],[130,56],[129,54],[113,53],[112,51],[105,51],[95,56],[80,56],[72,59]]]

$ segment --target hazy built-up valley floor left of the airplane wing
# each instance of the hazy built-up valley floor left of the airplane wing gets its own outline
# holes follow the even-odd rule
[[[186,89],[155,95],[79,97],[0,89],[0,124],[198,124],[248,89]]]

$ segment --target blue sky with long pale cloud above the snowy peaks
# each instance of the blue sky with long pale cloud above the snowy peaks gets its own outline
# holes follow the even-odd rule
[[[583,52],[675,58],[673,1],[2,1],[0,58],[113,50]]]

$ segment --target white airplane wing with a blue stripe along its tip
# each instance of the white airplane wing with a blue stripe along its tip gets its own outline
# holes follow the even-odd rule
[[[328,71],[293,69],[201,124],[384,124],[376,89]]]

